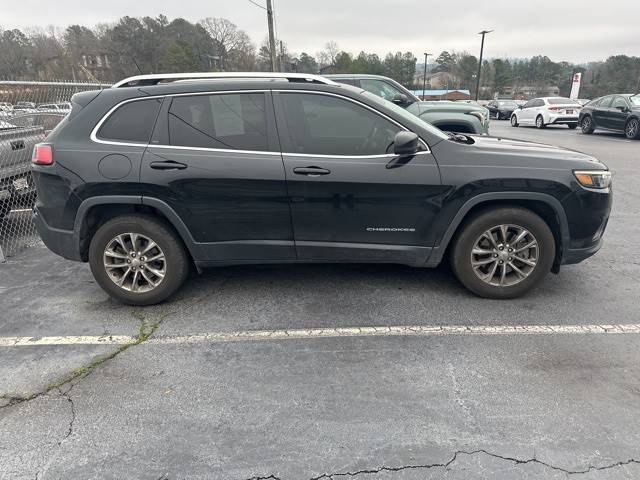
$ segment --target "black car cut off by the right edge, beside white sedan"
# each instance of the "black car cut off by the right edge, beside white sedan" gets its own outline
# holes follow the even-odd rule
[[[622,132],[630,139],[640,138],[640,95],[607,95],[585,105],[580,112],[582,133],[596,129]]]

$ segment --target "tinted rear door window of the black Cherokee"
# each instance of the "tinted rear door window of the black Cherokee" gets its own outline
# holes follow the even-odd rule
[[[169,142],[184,147],[268,150],[263,93],[175,97]]]

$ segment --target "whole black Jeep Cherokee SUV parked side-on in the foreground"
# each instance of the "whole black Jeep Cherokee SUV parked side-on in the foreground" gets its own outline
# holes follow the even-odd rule
[[[447,135],[302,74],[147,75],[76,94],[33,175],[45,244],[136,305],[169,297],[191,265],[445,256],[474,293],[516,297],[593,255],[611,208],[590,156]]]

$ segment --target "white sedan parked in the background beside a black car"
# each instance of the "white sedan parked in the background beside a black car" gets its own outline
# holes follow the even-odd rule
[[[575,100],[563,97],[543,97],[529,100],[511,114],[511,125],[531,125],[545,128],[547,125],[578,126],[580,105]]]

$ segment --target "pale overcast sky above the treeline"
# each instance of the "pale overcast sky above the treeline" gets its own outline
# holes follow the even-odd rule
[[[266,0],[255,0],[264,5]],[[0,0],[4,28],[95,25],[124,15],[225,17],[253,42],[267,34],[266,13],[249,0]],[[334,40],[354,53],[479,50],[482,29],[489,57],[547,55],[584,62],[613,54],[640,56],[634,0],[274,0],[278,37],[310,54]]]

